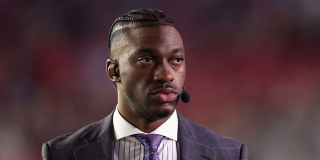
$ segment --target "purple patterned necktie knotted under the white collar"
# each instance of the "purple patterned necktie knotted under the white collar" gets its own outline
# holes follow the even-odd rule
[[[159,134],[133,134],[144,147],[143,160],[160,160],[158,155],[158,146],[164,136]]]

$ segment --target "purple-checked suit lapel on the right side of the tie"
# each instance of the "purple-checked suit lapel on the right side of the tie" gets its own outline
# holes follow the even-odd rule
[[[180,159],[210,159],[214,160],[216,151],[212,150],[205,140],[207,133],[202,130],[195,130],[192,127],[191,121],[178,115],[178,145]]]

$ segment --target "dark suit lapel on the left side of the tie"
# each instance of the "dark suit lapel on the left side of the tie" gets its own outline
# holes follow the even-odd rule
[[[76,160],[113,158],[112,147],[114,135],[112,115],[113,111],[81,135],[81,138],[87,144],[74,149],[74,158]]]

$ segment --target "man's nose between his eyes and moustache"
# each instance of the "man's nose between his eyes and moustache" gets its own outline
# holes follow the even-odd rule
[[[158,83],[168,83],[174,80],[174,76],[172,75],[172,68],[168,64],[168,62],[162,62],[158,64],[154,71],[155,82]]]

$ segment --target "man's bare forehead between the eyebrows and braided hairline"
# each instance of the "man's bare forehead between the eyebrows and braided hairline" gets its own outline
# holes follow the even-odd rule
[[[133,51],[139,48],[173,49],[182,48],[179,32],[170,25],[156,25],[124,29],[114,45],[115,52]]]

